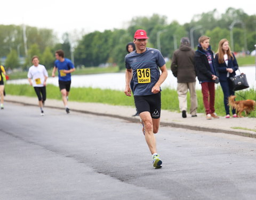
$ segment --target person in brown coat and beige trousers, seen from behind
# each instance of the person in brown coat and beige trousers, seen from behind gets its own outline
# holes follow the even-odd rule
[[[181,45],[173,53],[171,70],[178,80],[177,92],[179,98],[179,107],[182,117],[186,118],[187,114],[187,92],[190,92],[190,114],[196,117],[197,97],[196,97],[196,71],[194,65],[195,51],[191,49],[187,37],[181,38]]]

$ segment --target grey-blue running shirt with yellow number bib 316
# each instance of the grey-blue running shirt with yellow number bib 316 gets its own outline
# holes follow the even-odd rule
[[[151,95],[152,87],[157,83],[159,67],[165,65],[163,55],[159,50],[146,48],[143,53],[133,51],[125,56],[126,69],[132,69],[133,91],[135,95]]]

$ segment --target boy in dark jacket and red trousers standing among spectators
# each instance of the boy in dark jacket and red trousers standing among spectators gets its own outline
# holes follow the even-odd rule
[[[202,86],[206,119],[219,118],[215,113],[215,86],[218,79],[218,71],[215,68],[213,52],[210,46],[210,37],[201,36],[198,39],[198,47],[195,54],[195,67],[199,83]],[[209,98],[210,97],[210,98]],[[210,99],[210,100],[209,100]]]

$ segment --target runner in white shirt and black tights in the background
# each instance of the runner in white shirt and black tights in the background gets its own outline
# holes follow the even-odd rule
[[[33,66],[29,67],[28,70],[28,82],[35,89],[38,97],[38,106],[41,110],[41,116],[44,116],[44,102],[46,100],[46,80],[48,73],[43,65],[39,65],[39,58],[35,55],[32,58]]]

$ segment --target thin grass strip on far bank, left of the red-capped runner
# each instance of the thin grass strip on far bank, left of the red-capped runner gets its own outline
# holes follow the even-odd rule
[[[85,75],[85,74],[102,74],[102,73],[116,73],[119,71],[117,66],[115,67],[86,67],[76,69],[72,75]],[[48,75],[52,75],[52,69],[47,70]],[[55,73],[56,75],[58,72]],[[11,80],[20,79],[20,78],[27,78],[28,72],[27,71],[19,71],[12,74],[9,74]]]

